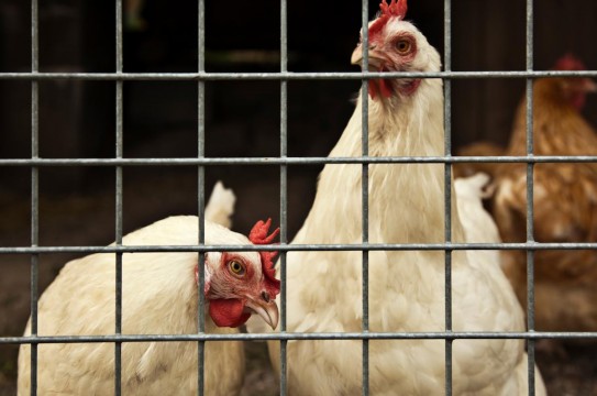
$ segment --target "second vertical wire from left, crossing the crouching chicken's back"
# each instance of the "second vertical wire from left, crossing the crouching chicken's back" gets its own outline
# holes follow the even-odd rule
[[[122,0],[117,0],[117,75],[122,74]],[[117,80],[117,140],[115,157],[122,158],[122,80]],[[115,167],[115,244],[122,245],[122,166]],[[115,254],[115,329],[122,333],[122,253]],[[121,394],[122,342],[114,343],[114,395]]]

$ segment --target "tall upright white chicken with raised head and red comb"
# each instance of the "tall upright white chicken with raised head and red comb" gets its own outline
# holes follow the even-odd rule
[[[438,52],[409,22],[405,0],[382,1],[369,23],[369,47],[352,54],[379,72],[439,72]],[[439,156],[444,152],[441,79],[380,78],[368,82],[372,156]],[[362,96],[332,157],[362,155]],[[292,244],[362,242],[362,166],[328,164],[313,206]],[[452,196],[454,193],[452,191]],[[443,243],[444,165],[368,166],[371,243]],[[452,239],[465,230],[452,200]],[[287,254],[287,330],[362,331],[362,252],[290,251]],[[368,327],[373,332],[445,330],[442,251],[368,253]],[[522,331],[523,315],[499,265],[477,251],[452,253],[452,324],[455,331]],[[279,342],[269,342],[279,370]],[[443,395],[445,341],[371,340],[372,395]],[[291,340],[287,344],[288,394],[357,395],[362,392],[362,342]],[[455,395],[527,395],[522,340],[457,340],[452,356]],[[537,394],[544,387],[537,372]]]

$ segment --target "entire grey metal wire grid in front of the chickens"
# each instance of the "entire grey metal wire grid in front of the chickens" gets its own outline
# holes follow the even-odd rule
[[[280,72],[279,73],[207,73],[204,69],[204,1],[199,0],[198,9],[198,47],[199,57],[197,73],[123,73],[123,43],[122,43],[122,0],[115,0],[117,32],[115,73],[40,73],[38,72],[38,13],[37,0],[31,2],[31,73],[2,73],[0,79],[31,81],[31,158],[0,160],[0,166],[18,166],[31,168],[31,245],[23,248],[0,246],[0,254],[18,253],[31,256],[31,336],[2,337],[0,344],[16,343],[31,344],[31,394],[36,394],[37,387],[37,345],[40,343],[82,343],[82,342],[113,342],[114,343],[114,394],[121,394],[121,346],[123,342],[146,341],[196,341],[198,342],[198,394],[203,394],[203,364],[204,342],[223,340],[279,340],[281,358],[280,394],[286,395],[286,367],[288,340],[362,340],[363,341],[363,395],[369,394],[368,386],[368,341],[369,340],[406,340],[427,339],[445,340],[445,394],[452,394],[452,343],[458,339],[524,339],[528,342],[528,377],[529,395],[534,394],[534,342],[538,339],[594,339],[597,332],[537,332],[534,331],[534,252],[538,250],[597,250],[597,243],[539,243],[533,239],[533,166],[537,163],[583,163],[597,162],[597,156],[541,156],[533,155],[532,135],[532,81],[538,77],[577,76],[596,77],[597,72],[534,72],[533,70],[533,2],[527,0],[527,70],[526,72],[452,72],[451,70],[451,0],[444,0],[444,72],[442,73],[300,73],[288,72],[287,62],[287,2],[280,0]],[[362,22],[367,26],[368,2],[362,1]],[[367,29],[363,29],[364,45],[367,45]],[[364,63],[367,64],[367,53],[364,52]],[[366,67],[365,67],[366,69]],[[443,78],[444,80],[444,155],[433,157],[369,157],[367,131],[367,80],[378,77],[421,77]],[[526,78],[527,80],[527,155],[526,156],[466,156],[453,157],[451,154],[451,81],[455,78]],[[110,80],[117,87],[117,122],[115,122],[115,157],[114,158],[40,158],[38,156],[38,81],[56,79],[81,80]],[[237,158],[207,158],[204,156],[204,82],[209,80],[279,80],[280,82],[280,155],[279,157],[237,157]],[[363,133],[362,157],[288,157],[287,156],[287,82],[288,80],[314,79],[360,79],[363,89]],[[198,84],[198,156],[197,158],[124,158],[123,157],[123,101],[122,85],[126,80],[196,80]],[[526,163],[527,164],[527,242],[524,243],[452,243],[451,235],[451,164],[463,162],[491,162],[491,163]],[[368,242],[368,165],[379,163],[442,163],[444,167],[444,205],[445,205],[445,243],[410,243],[410,244],[374,244]],[[125,166],[181,166],[196,165],[198,167],[198,213],[204,212],[204,167],[210,165],[277,165],[280,169],[280,244],[258,246],[226,246],[204,245],[204,224],[199,223],[198,244],[192,246],[123,246],[122,245],[122,170]],[[362,165],[362,219],[363,240],[361,244],[303,244],[288,245],[287,235],[287,166],[306,164],[361,164]],[[40,246],[38,245],[38,168],[56,166],[107,166],[115,170],[115,244],[112,246]],[[122,334],[122,254],[126,252],[197,252],[201,260],[210,251],[255,251],[276,250],[280,252],[281,263],[281,304],[279,333],[270,334],[206,334],[203,295],[198,294],[199,316],[197,334],[166,334],[166,336],[130,336]],[[368,331],[368,252],[369,251],[413,251],[432,250],[445,252],[445,330],[436,332],[371,332]],[[453,251],[460,250],[526,250],[528,273],[528,331],[523,332],[463,332],[452,330],[452,293],[451,293],[451,264]],[[361,332],[351,333],[294,333],[286,328],[286,253],[289,251],[361,251],[363,253],[363,323]],[[115,298],[115,328],[111,336],[57,336],[40,337],[37,334],[37,274],[38,256],[44,253],[113,253],[117,265],[117,298]],[[200,273],[200,285],[204,278]],[[201,288],[200,288],[201,289]]]

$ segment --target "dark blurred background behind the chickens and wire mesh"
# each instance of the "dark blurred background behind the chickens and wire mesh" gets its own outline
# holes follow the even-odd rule
[[[369,1],[369,16],[378,9]],[[0,0],[0,73],[31,70],[31,4]],[[44,0],[38,6],[40,70],[113,73],[115,10],[106,1]],[[543,0],[534,7],[534,68],[551,68],[565,53],[597,68],[593,37],[597,2]],[[443,1],[412,0],[408,19],[443,55]],[[197,3],[124,0],[124,72],[197,70]],[[458,0],[452,4],[453,70],[523,70],[526,1]],[[356,72],[350,55],[358,40],[361,2],[288,4],[290,72]],[[279,3],[207,2],[208,72],[278,72]],[[0,76],[1,77],[1,76]],[[40,82],[40,156],[101,158],[115,155],[113,81]],[[125,81],[125,157],[196,157],[198,88],[195,81]],[[206,155],[278,156],[279,82],[206,84]],[[288,155],[325,156],[351,113],[356,80],[288,82]],[[506,145],[523,79],[455,79],[453,152],[478,140]],[[585,117],[597,124],[597,98]],[[31,157],[31,84],[0,78],[0,157]],[[319,166],[288,168],[288,235],[310,208]],[[40,244],[104,245],[114,239],[114,169],[43,167],[40,170]],[[277,166],[213,166],[207,194],[221,179],[237,197],[234,229],[246,233],[266,217],[279,222]],[[170,215],[197,213],[197,168],[125,167],[124,231]],[[31,170],[0,167],[0,245],[30,245]],[[40,293],[68,254],[40,258]],[[30,315],[30,258],[0,255],[0,336],[20,336]],[[0,345],[0,394],[14,393],[15,345]],[[261,359],[263,348],[254,353]],[[589,351],[589,352],[587,352]],[[595,351],[538,362],[555,394],[596,394]],[[575,352],[576,353],[576,352]],[[570,354],[570,352],[567,352]],[[568,362],[570,361],[570,362]],[[550,375],[550,374],[554,375]],[[564,373],[565,375],[561,375]],[[266,371],[250,373],[246,394],[275,392]]]

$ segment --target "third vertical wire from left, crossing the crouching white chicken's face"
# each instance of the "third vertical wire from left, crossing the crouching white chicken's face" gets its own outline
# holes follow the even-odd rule
[[[198,58],[197,58],[197,70],[199,73],[206,72],[206,7],[204,1],[199,0],[198,3],[198,23],[197,23],[197,48],[198,48]],[[197,156],[199,158],[204,157],[206,155],[206,81],[199,79],[197,82]],[[203,165],[199,165],[197,168],[197,211],[199,216],[199,245],[206,243],[206,168]],[[197,328],[199,333],[206,331],[206,304],[204,304],[204,258],[206,253],[199,252],[199,293],[198,296],[198,315],[197,315]],[[204,363],[206,363],[206,342],[199,341],[197,345],[197,394],[203,395],[204,392]]]

